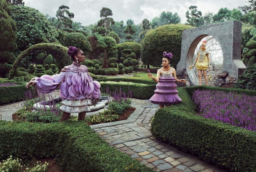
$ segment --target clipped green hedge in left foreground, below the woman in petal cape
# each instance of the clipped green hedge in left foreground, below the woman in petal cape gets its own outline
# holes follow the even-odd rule
[[[0,134],[0,160],[10,155],[23,160],[55,157],[63,171],[153,172],[110,147],[85,122],[0,121]]]

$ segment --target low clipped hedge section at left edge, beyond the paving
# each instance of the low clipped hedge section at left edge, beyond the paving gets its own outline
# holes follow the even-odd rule
[[[17,85],[0,87],[0,105],[20,101],[25,98],[24,92],[28,91],[26,82],[14,82]]]

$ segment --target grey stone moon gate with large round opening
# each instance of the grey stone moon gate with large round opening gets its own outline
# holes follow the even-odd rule
[[[191,85],[199,85],[194,70],[189,66],[193,64],[196,46],[206,36],[213,36],[220,43],[223,52],[223,71],[230,76],[238,78],[246,66],[241,61],[242,24],[237,21],[228,21],[211,24],[182,32],[181,59],[177,64],[177,71],[186,69]]]

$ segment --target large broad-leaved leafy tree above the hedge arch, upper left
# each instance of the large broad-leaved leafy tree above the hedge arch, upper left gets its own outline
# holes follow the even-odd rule
[[[10,15],[17,26],[17,45],[20,51],[26,50],[35,44],[38,38],[46,38],[51,42],[57,41],[55,27],[51,26],[45,15],[31,7],[9,6]],[[36,19],[36,20],[35,20]]]

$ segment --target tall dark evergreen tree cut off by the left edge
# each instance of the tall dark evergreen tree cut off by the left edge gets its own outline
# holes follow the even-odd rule
[[[0,0],[0,78],[6,77],[12,65],[8,62],[14,59],[11,53],[17,48],[16,25],[8,15],[8,5],[6,0]]]

